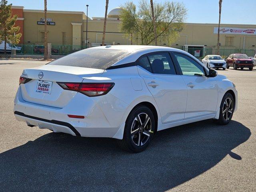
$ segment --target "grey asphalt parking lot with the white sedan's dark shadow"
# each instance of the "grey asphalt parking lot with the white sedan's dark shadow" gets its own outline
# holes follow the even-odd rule
[[[256,191],[256,70],[218,70],[236,84],[238,111],[158,132],[138,154],[111,138],[80,138],[18,122],[13,100],[24,68],[46,62],[0,60],[0,190]]]

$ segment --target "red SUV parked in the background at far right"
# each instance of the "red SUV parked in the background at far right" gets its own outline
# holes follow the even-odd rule
[[[249,68],[251,71],[253,69],[253,60],[249,58],[246,54],[231,54],[227,60],[227,69],[233,67],[235,70],[240,68]]]

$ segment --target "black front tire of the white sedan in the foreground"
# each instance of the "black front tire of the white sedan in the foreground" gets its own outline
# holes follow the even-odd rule
[[[227,100],[227,102],[225,102],[226,100]],[[232,101],[231,104],[228,102],[228,100]],[[223,96],[222,102],[220,104],[220,116],[219,116],[219,119],[216,120],[218,122],[218,124],[220,124],[220,125],[228,124],[232,119],[232,116],[234,113],[234,108],[235,108],[235,103],[234,103],[234,98],[233,98],[232,94],[226,93]],[[227,112],[227,110],[228,110],[228,112]]]

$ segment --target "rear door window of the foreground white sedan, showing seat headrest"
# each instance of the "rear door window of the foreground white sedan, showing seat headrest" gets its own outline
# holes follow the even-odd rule
[[[148,55],[150,65],[155,74],[176,74],[174,64],[168,53],[156,53]]]

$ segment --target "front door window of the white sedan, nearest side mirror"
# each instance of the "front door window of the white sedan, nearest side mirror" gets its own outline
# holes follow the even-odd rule
[[[174,56],[180,65],[183,75],[205,76],[204,68],[198,62],[184,54],[174,53]]]

